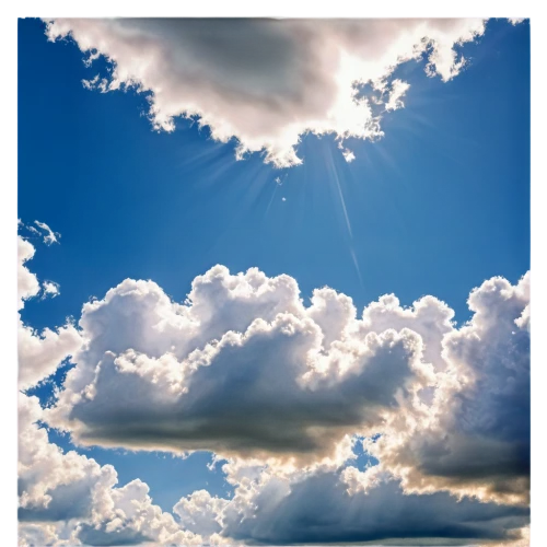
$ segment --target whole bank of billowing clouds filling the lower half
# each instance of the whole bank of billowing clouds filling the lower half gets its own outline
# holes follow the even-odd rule
[[[40,286],[34,246],[18,245],[24,304]],[[20,393],[20,545],[525,547],[531,283],[485,281],[456,327],[433,296],[384,295],[358,316],[333,289],[306,304],[290,276],[216,266],[183,304],[126,279],[78,327],[20,325],[22,386],[75,363],[53,407]],[[234,496],[198,490],[166,512],[45,423],[82,444],[211,451]]]

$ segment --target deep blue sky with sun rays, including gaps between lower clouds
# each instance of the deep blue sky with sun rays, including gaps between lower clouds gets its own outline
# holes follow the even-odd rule
[[[183,302],[216,264],[288,274],[306,301],[331,287],[359,314],[385,293],[403,305],[433,294],[467,321],[473,288],[492,276],[515,283],[532,260],[532,25],[489,21],[462,49],[469,66],[446,83],[423,63],[397,69],[410,83],[405,107],[385,114],[380,140],[348,141],[353,162],[331,137],[309,135],[304,163],[278,170],[257,153],[236,161],[234,141],[187,120],[153,131],[146,94],[85,89],[104,60],[90,69],[73,42],[47,42],[43,22],[20,20],[16,214],[61,234],[32,260],[61,294],[28,301],[23,321],[42,329],[78,318],[126,278]],[[210,453],[82,453],[113,464],[121,485],[148,482],[165,511],[196,489],[231,490],[207,469]]]

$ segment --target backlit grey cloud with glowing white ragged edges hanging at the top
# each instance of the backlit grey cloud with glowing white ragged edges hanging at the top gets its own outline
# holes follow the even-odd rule
[[[466,63],[456,46],[485,30],[480,13],[433,19],[423,11],[416,19],[414,10],[397,19],[336,11],[328,19],[319,12],[299,19],[58,15],[46,20],[50,40],[70,35],[88,63],[101,55],[113,63],[108,77],[97,74],[88,88],[150,92],[154,128],[171,131],[175,117],[191,118],[213,139],[234,138],[238,159],[261,151],[278,167],[302,162],[296,147],[306,132],[340,142],[381,137],[380,117],[361,88],[383,92],[398,65],[422,57],[429,75],[449,81]],[[401,106],[406,89],[393,83],[386,109]],[[345,156],[353,158],[349,150]]]

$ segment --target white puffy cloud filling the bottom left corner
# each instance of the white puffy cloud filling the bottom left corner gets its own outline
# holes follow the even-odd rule
[[[136,479],[117,488],[114,467],[49,442],[39,426],[43,414],[37,397],[20,394],[21,545],[202,545],[200,536],[152,503],[144,482]]]

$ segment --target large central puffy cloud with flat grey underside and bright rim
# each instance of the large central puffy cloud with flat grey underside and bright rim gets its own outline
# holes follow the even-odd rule
[[[330,289],[212,268],[185,305],[126,280],[83,307],[89,340],[48,420],[82,443],[323,458],[434,383],[409,328],[353,328]],[[139,396],[136,396],[139,394]]]

